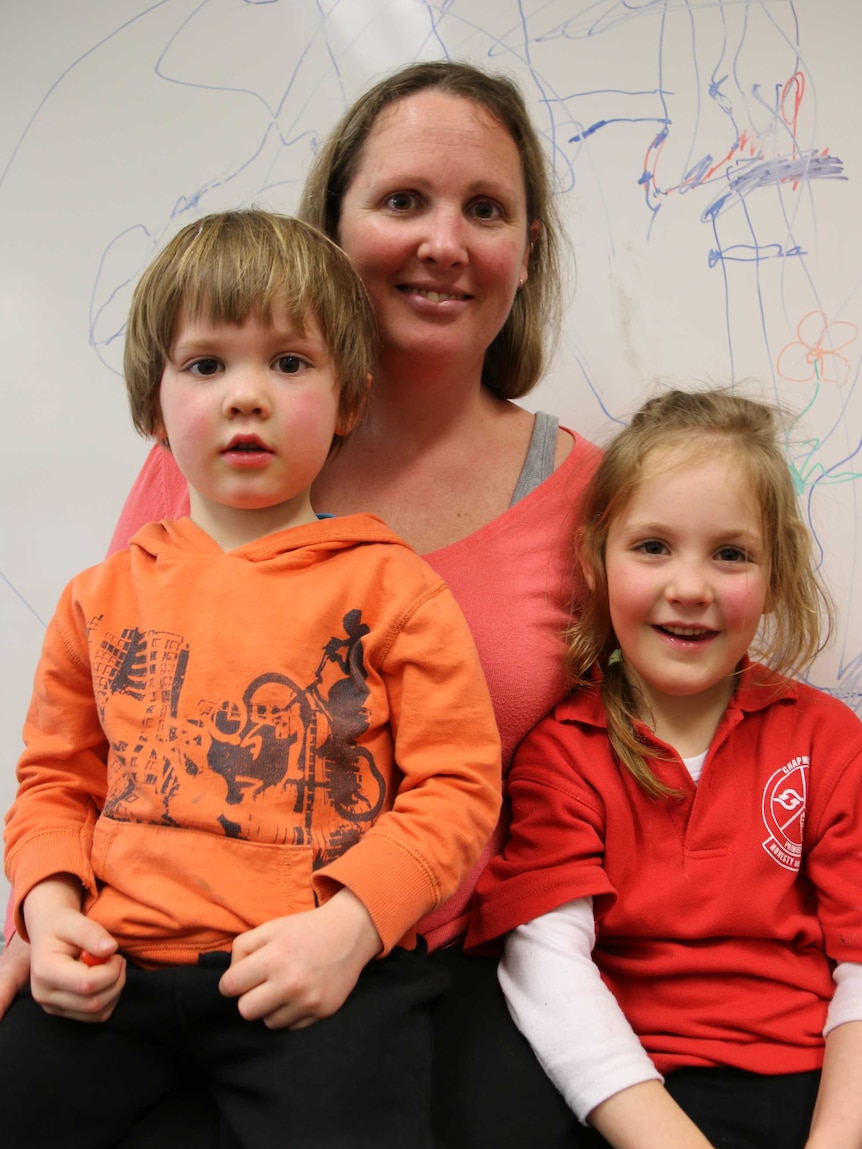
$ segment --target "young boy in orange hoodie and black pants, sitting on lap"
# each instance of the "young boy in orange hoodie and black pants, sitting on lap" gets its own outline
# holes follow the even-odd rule
[[[263,211],[186,226],[136,290],[132,415],[191,517],[48,627],[6,830],[33,971],[0,1026],[11,1144],[114,1144],[191,1063],[244,1146],[432,1144],[414,927],[490,836],[500,747],[445,584],[311,509],[374,346],[347,257]]]

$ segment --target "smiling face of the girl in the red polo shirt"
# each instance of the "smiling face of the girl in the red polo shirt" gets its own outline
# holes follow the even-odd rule
[[[767,606],[760,507],[732,450],[649,463],[608,533],[610,620],[649,712],[688,700],[692,714],[719,714]]]

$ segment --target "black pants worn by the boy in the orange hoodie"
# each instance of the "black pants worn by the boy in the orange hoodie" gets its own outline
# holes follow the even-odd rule
[[[220,1149],[432,1149],[430,1003],[446,979],[424,955],[371,962],[337,1013],[298,1031],[244,1020],[218,993],[225,965],[130,969],[100,1025],[20,995],[0,1026],[6,1143],[111,1149],[206,1082],[199,1132]],[[197,1144],[182,1112],[153,1144]]]

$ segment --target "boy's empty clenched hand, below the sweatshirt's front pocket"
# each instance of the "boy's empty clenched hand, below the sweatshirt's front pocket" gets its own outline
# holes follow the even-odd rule
[[[340,889],[305,913],[267,921],[233,942],[218,988],[238,997],[248,1021],[270,1030],[301,1030],[330,1017],[345,1002],[380,938],[362,902]]]

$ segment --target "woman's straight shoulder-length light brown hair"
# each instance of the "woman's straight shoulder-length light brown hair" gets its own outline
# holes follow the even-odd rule
[[[519,399],[541,378],[560,331],[562,300],[560,237],[548,162],[521,90],[506,76],[492,76],[455,60],[408,64],[364,92],[326,137],[306,180],[299,215],[338,241],[341,203],[362,151],[382,113],[411,95],[444,92],[484,110],[511,137],[521,156],[531,240],[528,278],[511,310],[485,352],[482,381],[501,399]]]

